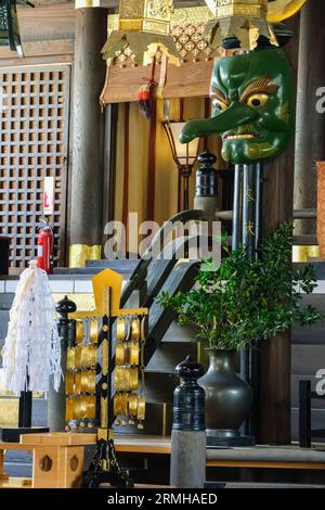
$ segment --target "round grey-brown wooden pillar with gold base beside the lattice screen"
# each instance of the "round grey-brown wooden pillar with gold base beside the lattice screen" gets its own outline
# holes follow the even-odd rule
[[[105,81],[101,49],[107,38],[107,10],[76,10],[73,95],[70,266],[100,258],[103,238],[104,120],[100,94]]]

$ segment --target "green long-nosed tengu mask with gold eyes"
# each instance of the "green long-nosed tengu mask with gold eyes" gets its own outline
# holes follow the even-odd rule
[[[186,123],[181,142],[222,135],[222,157],[234,164],[274,160],[295,132],[294,73],[281,49],[217,61],[210,97],[213,117]]]

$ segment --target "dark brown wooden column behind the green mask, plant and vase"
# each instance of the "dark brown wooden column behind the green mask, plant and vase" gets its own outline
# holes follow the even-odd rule
[[[284,48],[297,74],[299,16],[287,23],[295,33]],[[263,235],[282,221],[292,218],[294,212],[295,143],[274,163],[264,167]],[[281,278],[281,275],[274,275]],[[290,332],[261,344],[259,423],[257,439],[260,444],[281,445],[291,441],[291,341]]]

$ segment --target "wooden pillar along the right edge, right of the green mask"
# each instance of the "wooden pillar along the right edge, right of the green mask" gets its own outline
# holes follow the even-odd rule
[[[324,2],[309,0],[300,24],[295,209],[316,207],[315,162],[325,160],[325,114],[316,110],[316,91],[325,87],[324,26]],[[297,234],[315,232],[315,220],[297,220]]]

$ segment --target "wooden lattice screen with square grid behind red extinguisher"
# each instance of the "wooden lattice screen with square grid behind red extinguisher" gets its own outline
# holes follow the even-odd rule
[[[68,65],[0,68],[0,235],[11,239],[11,272],[36,256],[43,179],[50,176],[54,258],[64,262],[69,81]]]

